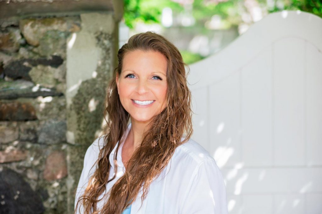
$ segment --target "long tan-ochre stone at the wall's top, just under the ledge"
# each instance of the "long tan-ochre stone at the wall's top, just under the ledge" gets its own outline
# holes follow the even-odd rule
[[[80,29],[78,20],[65,18],[24,19],[19,26],[24,38],[33,46],[40,45],[40,40],[48,31],[74,32]]]

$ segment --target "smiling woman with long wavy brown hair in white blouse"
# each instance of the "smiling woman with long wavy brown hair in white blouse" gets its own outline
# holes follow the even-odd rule
[[[132,36],[118,51],[106,105],[75,213],[227,213],[220,170],[190,139],[191,93],[172,43],[153,32]]]

